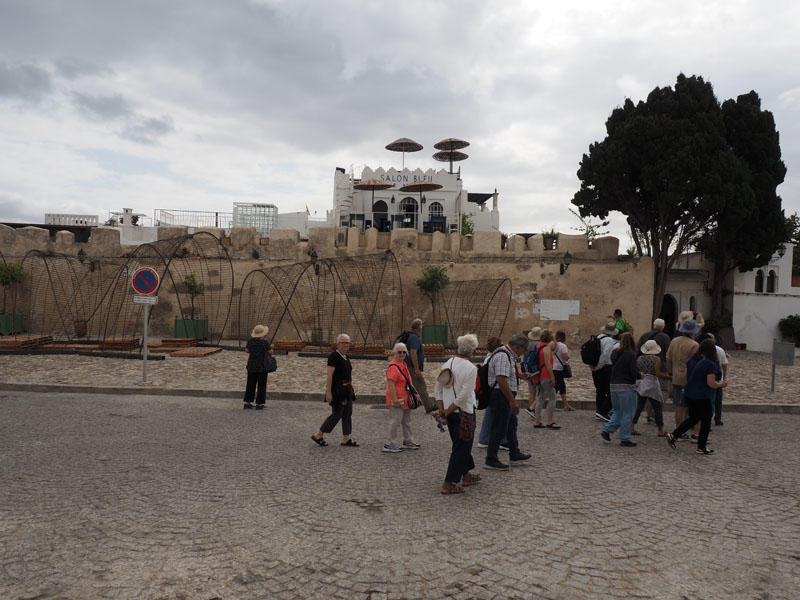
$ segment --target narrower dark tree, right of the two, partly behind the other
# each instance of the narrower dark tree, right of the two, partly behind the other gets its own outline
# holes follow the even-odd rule
[[[761,110],[751,91],[722,104],[728,144],[747,171],[746,192],[728,190],[719,197],[716,217],[708,223],[697,248],[714,265],[711,312],[723,312],[725,276],[735,268],[749,271],[769,263],[790,237],[777,187],[786,175],[772,113]],[[725,185],[725,182],[722,182]]]

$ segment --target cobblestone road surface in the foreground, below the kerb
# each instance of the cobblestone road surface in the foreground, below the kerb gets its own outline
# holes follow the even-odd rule
[[[379,451],[385,410],[320,448],[318,402],[0,392],[0,598],[794,599],[800,416],[729,414],[714,456],[587,411],[510,472],[439,493],[449,440]]]

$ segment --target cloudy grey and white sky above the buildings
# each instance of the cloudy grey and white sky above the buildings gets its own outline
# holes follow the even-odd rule
[[[800,3],[0,0],[0,221],[122,207],[331,208],[337,166],[471,142],[501,229],[569,231],[610,112],[678,73],[775,115],[800,210]],[[624,239],[624,221],[612,223]]]

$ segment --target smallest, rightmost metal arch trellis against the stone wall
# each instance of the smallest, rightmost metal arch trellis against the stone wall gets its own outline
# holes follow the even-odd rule
[[[481,345],[500,336],[511,310],[511,291],[508,278],[450,281],[440,294],[449,345],[455,346],[456,338],[465,333],[476,334]]]

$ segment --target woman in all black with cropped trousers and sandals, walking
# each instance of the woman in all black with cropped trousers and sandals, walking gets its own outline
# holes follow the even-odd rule
[[[331,405],[331,414],[311,436],[320,446],[327,446],[324,434],[333,431],[342,422],[342,446],[357,448],[361,444],[350,437],[353,431],[353,365],[347,356],[350,350],[350,336],[341,333],[336,338],[336,349],[328,355],[328,376],[325,380],[325,401]]]

